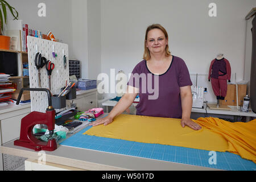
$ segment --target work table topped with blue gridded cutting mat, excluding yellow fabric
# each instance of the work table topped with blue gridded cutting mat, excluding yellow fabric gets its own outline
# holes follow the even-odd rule
[[[104,113],[99,118],[105,117],[107,114]],[[229,152],[217,152],[216,166],[209,162],[211,157],[209,151],[195,148],[153,144],[154,148],[150,155],[145,155],[147,151],[145,152],[144,146],[148,146],[147,143],[82,135],[86,129],[89,127],[84,127],[75,134],[67,134],[65,139],[58,142],[57,149],[52,152],[36,152],[28,148],[14,146],[14,140],[3,143],[0,152],[28,158],[25,164],[27,162],[27,164],[31,164],[30,166],[38,166],[32,168],[35,170],[52,170],[48,167],[49,163],[61,166],[58,169],[68,166],[83,170],[250,170],[255,168],[253,162],[245,161],[246,159]],[[115,149],[116,140],[121,142],[122,146],[118,150]],[[143,150],[138,148],[139,145]],[[126,151],[121,149],[126,147],[128,148]],[[133,147],[137,147],[136,150],[141,152],[135,154],[132,150]],[[156,153],[162,154],[162,157],[155,155]],[[42,157],[42,155],[44,156]],[[42,162],[42,159],[46,160],[46,165],[38,164]]]

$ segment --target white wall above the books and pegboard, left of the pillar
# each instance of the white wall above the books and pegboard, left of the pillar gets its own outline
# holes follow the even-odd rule
[[[40,30],[47,34],[49,30],[53,32],[55,38],[62,40],[69,46],[69,57],[72,56],[72,26],[71,21],[71,1],[69,0],[8,0],[11,6],[19,13],[19,19],[28,24],[28,28]],[[46,4],[46,17],[38,16],[38,4]],[[12,19],[9,9],[7,18]]]

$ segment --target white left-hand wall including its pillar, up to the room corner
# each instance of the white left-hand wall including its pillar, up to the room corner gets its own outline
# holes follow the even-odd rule
[[[56,38],[69,46],[69,58],[81,61],[81,77],[96,79],[101,64],[100,0],[9,0],[19,19],[29,28]],[[38,4],[46,4],[46,17],[38,16]],[[9,11],[8,17],[12,18]],[[89,46],[88,46],[89,45]]]

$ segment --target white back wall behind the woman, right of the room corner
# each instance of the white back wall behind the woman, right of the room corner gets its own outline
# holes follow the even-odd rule
[[[209,3],[217,17],[209,17]],[[210,61],[224,53],[232,67],[232,81],[243,79],[245,16],[255,0],[108,0],[101,1],[101,71],[115,68],[130,73],[142,60],[144,33],[160,23],[169,35],[173,55],[184,59],[190,73],[208,73]],[[207,83],[205,76],[205,84]],[[200,86],[200,85],[199,85]],[[208,88],[212,89],[212,88]],[[208,101],[215,101],[209,97]]]

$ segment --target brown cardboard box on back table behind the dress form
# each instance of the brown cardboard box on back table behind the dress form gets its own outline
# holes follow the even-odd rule
[[[237,106],[237,90],[238,90],[238,106],[243,105],[243,97],[246,96],[247,85],[228,84],[228,91],[225,100],[220,100],[220,105]]]

